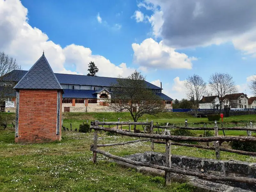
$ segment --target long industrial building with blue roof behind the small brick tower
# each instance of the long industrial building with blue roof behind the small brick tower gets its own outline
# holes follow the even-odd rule
[[[40,69],[39,69],[40,70]],[[1,78],[1,87],[17,84],[20,79],[26,75],[28,71],[13,70]],[[117,78],[86,76],[86,75],[70,75],[55,73],[56,78],[63,88],[62,95],[62,112],[100,112],[106,110],[104,107],[105,100],[111,98],[113,85],[117,84]],[[149,82],[145,82],[148,89],[151,89],[166,104],[167,109],[172,109],[172,98],[162,93],[162,88]],[[15,97],[13,91],[6,96],[5,106],[2,110],[6,112],[15,112]]]

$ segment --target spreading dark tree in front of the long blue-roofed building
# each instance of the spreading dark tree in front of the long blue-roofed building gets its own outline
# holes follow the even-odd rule
[[[164,111],[164,101],[148,89],[145,77],[136,70],[126,78],[119,76],[113,87],[108,107],[117,112],[129,111],[134,122],[144,114],[156,115]]]

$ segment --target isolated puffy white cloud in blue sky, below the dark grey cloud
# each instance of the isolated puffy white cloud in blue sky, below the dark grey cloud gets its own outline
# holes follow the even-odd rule
[[[166,46],[163,41],[157,43],[154,39],[145,39],[141,44],[133,43],[133,61],[140,66],[149,68],[192,68],[191,60],[184,53],[176,52],[174,48]]]

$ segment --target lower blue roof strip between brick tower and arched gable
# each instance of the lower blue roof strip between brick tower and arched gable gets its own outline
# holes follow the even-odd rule
[[[94,90],[63,89],[62,98],[97,98]]]

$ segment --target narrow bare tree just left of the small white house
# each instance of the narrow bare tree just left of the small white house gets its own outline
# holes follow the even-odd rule
[[[188,76],[185,81],[186,95],[189,100],[193,102],[193,108],[195,109],[195,116],[197,116],[197,109],[199,108],[199,101],[206,93],[206,82],[202,77],[194,74]]]

